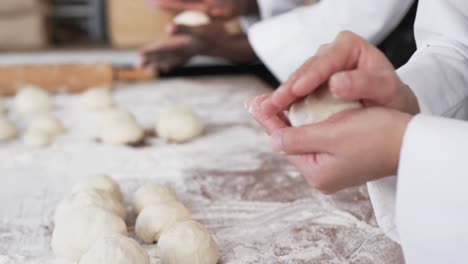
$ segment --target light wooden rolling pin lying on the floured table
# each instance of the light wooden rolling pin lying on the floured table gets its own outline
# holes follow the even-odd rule
[[[0,66],[0,94],[12,95],[24,85],[37,85],[50,92],[78,93],[114,81],[151,80],[152,70],[119,68],[109,63]]]

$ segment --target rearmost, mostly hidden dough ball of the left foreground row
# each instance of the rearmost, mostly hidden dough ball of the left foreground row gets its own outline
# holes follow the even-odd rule
[[[82,182],[75,184],[72,193],[80,192],[83,190],[98,189],[108,192],[116,201],[123,201],[122,191],[120,185],[111,177],[107,175],[98,175],[89,177]]]

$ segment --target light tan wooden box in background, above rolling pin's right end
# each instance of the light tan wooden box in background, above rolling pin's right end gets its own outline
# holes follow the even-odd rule
[[[146,0],[108,0],[107,12],[109,37],[116,47],[140,47],[167,39],[165,28],[174,17]]]

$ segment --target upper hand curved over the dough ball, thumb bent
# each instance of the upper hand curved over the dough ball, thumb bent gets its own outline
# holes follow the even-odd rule
[[[416,96],[398,78],[385,55],[351,32],[342,32],[333,43],[321,47],[261,108],[267,116],[285,111],[325,82],[343,99],[361,100],[365,106],[383,106],[410,114],[419,112]]]

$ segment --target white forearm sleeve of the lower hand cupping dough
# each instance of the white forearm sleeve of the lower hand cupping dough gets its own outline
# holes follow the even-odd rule
[[[468,123],[419,115],[406,131],[396,219],[406,263],[468,263]]]

